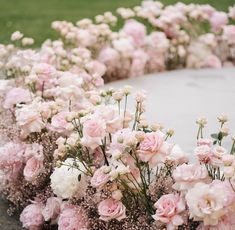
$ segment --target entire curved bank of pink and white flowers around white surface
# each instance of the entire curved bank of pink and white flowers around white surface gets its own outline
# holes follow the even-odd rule
[[[0,44],[0,193],[9,211],[22,210],[29,230],[234,230],[227,117],[211,137],[198,119],[185,152],[173,130],[147,121],[145,91],[100,87],[168,69],[234,66],[235,7],[150,0],[117,14],[55,21],[60,38],[37,49],[19,31],[14,44]]]

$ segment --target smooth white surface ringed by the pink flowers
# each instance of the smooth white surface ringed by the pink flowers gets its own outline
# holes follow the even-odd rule
[[[218,131],[216,117],[220,114],[228,115],[228,126],[235,134],[235,68],[170,71],[112,82],[105,88],[124,85],[147,91],[148,121],[173,128],[172,141],[187,152],[191,152],[196,143],[198,117],[208,119],[206,137]],[[130,107],[133,109],[133,101]],[[230,142],[227,138],[226,146],[230,146]]]

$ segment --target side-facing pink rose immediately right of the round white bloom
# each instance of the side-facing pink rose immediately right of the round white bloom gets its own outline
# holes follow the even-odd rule
[[[103,166],[97,169],[91,178],[91,186],[95,188],[102,188],[110,179],[108,168]]]

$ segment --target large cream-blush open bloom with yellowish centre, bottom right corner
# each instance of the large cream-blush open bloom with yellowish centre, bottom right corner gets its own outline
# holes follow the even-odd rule
[[[234,202],[234,191],[227,182],[214,180],[211,184],[198,183],[185,196],[190,218],[204,225],[217,225]]]

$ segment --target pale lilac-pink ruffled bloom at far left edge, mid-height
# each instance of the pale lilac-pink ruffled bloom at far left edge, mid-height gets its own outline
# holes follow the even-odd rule
[[[12,88],[8,91],[3,107],[11,109],[18,103],[27,103],[31,101],[30,92],[23,88]]]

